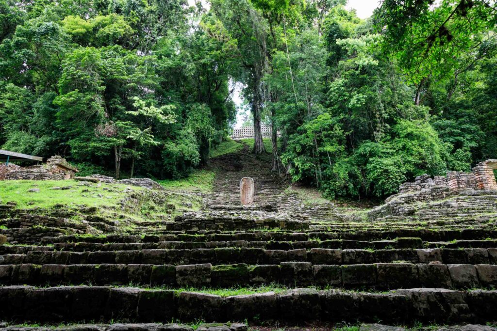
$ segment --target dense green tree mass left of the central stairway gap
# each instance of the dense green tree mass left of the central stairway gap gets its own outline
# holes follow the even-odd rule
[[[185,0],[1,0],[0,146],[177,177],[226,135],[231,45]]]

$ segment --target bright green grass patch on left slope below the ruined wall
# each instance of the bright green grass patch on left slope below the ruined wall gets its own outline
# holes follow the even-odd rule
[[[128,188],[124,184],[105,184],[100,187],[95,184],[91,186],[78,186],[81,182],[74,180],[66,181],[3,181],[0,185],[1,203],[14,201],[19,208],[40,207],[50,208],[56,204],[67,206],[116,206],[117,202],[124,198],[123,191]],[[54,187],[70,186],[69,190],[52,190]],[[40,192],[28,192],[29,189],[37,188]],[[107,190],[108,189],[108,190]],[[133,191],[143,188],[131,187]],[[88,192],[83,192],[88,190]]]

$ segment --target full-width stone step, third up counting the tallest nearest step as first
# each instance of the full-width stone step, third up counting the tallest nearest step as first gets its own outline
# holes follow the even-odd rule
[[[142,250],[109,252],[50,252],[31,251],[26,254],[0,255],[0,265],[21,264],[153,264],[153,265],[212,265],[246,263],[279,264],[281,262],[311,262],[328,265],[371,263],[497,264],[497,248],[465,249],[388,249],[335,250],[313,248],[297,250],[264,250],[261,248],[218,248],[192,250]]]

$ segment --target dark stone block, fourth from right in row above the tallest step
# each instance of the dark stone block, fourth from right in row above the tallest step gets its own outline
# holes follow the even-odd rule
[[[377,264],[377,286],[381,288],[409,288],[419,286],[417,268],[413,264]]]

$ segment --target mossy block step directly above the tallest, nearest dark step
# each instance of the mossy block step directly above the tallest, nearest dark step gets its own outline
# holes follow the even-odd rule
[[[124,285],[169,288],[234,288],[281,284],[376,290],[497,286],[497,265],[361,264],[323,265],[0,265],[4,285]]]

